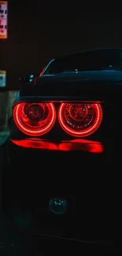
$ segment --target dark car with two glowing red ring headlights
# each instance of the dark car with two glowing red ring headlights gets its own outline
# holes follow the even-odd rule
[[[122,49],[54,58],[13,104],[2,211],[34,236],[119,244]]]

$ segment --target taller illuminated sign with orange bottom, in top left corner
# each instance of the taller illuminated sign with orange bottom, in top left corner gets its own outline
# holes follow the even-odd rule
[[[7,38],[8,5],[6,1],[0,1],[0,39]]]

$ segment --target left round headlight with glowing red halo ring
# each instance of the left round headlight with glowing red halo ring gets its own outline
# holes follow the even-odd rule
[[[21,132],[43,135],[54,126],[56,110],[53,103],[21,102],[13,109],[13,119]]]

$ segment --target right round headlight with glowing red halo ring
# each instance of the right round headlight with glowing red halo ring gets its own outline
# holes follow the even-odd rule
[[[85,137],[100,126],[102,107],[97,103],[61,103],[58,121],[69,135]]]

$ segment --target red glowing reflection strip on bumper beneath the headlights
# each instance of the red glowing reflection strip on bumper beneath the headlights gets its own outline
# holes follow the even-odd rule
[[[100,142],[86,139],[72,139],[53,143],[42,139],[11,139],[11,141],[20,147],[36,148],[42,150],[61,150],[61,151],[86,151],[91,153],[102,153],[103,145]]]

